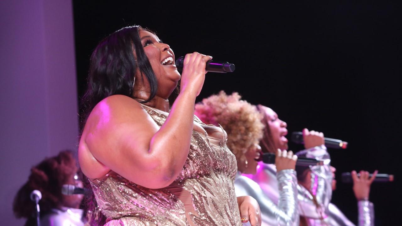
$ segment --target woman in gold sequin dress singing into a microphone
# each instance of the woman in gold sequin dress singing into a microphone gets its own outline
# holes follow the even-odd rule
[[[169,45],[139,26],[98,44],[78,151],[105,216],[98,224],[232,226],[247,216],[244,222],[258,225],[256,201],[234,193],[236,158],[224,132],[194,116],[211,59],[187,54],[180,76]]]

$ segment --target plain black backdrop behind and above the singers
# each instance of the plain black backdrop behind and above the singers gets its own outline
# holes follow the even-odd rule
[[[304,127],[349,142],[329,150],[336,176],[375,169],[394,183],[373,184],[375,225],[398,222],[400,203],[401,7],[393,2],[73,1],[78,95],[98,41],[127,25],[142,25],[174,50],[198,51],[236,65],[209,73],[197,101],[225,90],[271,107],[289,132]],[[302,146],[290,144],[291,150]],[[357,223],[351,184],[332,202]]]

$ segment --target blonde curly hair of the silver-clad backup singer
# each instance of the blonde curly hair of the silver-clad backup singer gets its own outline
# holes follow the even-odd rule
[[[222,90],[195,105],[195,115],[206,124],[221,125],[228,134],[228,148],[239,159],[253,144],[263,138],[263,116],[254,105],[240,100],[234,92],[226,95]]]

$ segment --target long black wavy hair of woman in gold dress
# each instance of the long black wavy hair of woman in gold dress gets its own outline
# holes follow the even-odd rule
[[[82,97],[82,127],[89,113],[101,100],[111,95],[133,96],[134,76],[138,68],[141,78],[144,75],[150,84],[150,97],[141,103],[153,99],[158,89],[158,82],[151,64],[144,53],[139,31],[141,26],[123,27],[99,42],[90,58],[88,88]],[[133,51],[135,50],[136,56]]]

